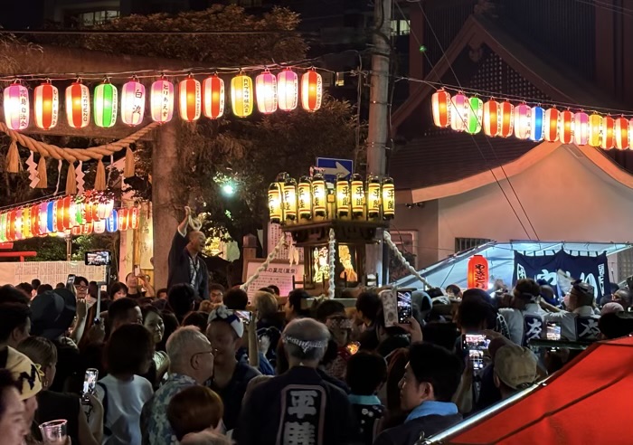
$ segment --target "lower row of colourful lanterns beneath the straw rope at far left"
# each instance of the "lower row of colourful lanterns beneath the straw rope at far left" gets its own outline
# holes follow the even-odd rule
[[[47,235],[90,235],[138,229],[138,207],[114,208],[99,194],[67,195],[0,212],[0,242]]]

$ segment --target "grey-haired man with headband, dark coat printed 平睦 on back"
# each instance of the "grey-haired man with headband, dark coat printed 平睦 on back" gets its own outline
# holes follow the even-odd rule
[[[234,439],[240,445],[348,444],[357,429],[345,392],[317,372],[330,333],[311,318],[297,318],[284,329],[290,369],[253,388]]]

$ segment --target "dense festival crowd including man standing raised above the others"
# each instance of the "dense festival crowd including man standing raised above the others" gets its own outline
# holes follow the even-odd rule
[[[274,286],[249,298],[209,282],[190,223],[168,290],[128,275],[99,313],[82,277],[0,288],[3,444],[46,443],[40,426],[62,419],[80,445],[413,445],[570,362],[531,346],[550,326],[565,345],[633,332],[628,289],[596,304],[580,281],[560,299],[534,279],[413,291],[396,326],[381,289],[346,289],[352,307]]]

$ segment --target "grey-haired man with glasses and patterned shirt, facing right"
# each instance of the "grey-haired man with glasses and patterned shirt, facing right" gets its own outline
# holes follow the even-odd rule
[[[141,412],[143,445],[177,443],[167,407],[172,397],[185,388],[203,384],[213,375],[213,349],[197,327],[178,328],[167,340],[169,378],[146,402]]]

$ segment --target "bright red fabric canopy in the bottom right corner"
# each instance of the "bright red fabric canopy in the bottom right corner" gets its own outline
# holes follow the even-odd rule
[[[534,391],[424,443],[633,443],[633,337],[590,346]]]

